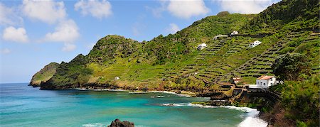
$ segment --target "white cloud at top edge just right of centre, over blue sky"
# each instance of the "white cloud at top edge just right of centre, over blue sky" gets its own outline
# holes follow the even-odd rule
[[[210,11],[203,0],[169,1],[168,11],[178,18],[204,15]]]

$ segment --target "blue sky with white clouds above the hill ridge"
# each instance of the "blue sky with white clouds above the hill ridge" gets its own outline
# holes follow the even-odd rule
[[[87,55],[106,35],[141,42],[220,11],[260,13],[277,1],[0,1],[0,83],[30,82],[50,62]]]

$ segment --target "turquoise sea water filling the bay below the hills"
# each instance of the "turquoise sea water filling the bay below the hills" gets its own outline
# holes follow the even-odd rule
[[[0,84],[1,127],[106,126],[115,118],[136,126],[238,126],[250,115],[235,109],[190,106],[191,101],[207,99],[176,94],[52,91],[27,85]]]

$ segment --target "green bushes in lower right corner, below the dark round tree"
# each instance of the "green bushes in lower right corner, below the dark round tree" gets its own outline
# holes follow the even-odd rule
[[[282,93],[280,109],[284,110],[284,118],[296,121],[295,126],[319,126],[319,77],[309,77],[304,81],[288,81],[272,89]]]

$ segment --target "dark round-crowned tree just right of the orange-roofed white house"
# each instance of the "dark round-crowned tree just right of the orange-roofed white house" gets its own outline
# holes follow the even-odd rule
[[[273,73],[284,81],[298,81],[310,74],[310,62],[300,53],[280,55],[272,65]]]

